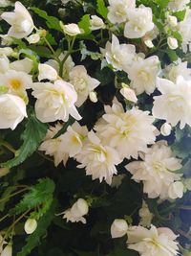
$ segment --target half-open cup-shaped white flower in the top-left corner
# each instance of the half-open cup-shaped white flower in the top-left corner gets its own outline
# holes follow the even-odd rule
[[[32,17],[20,2],[15,3],[14,12],[3,12],[1,17],[11,25],[9,36],[24,38],[32,33]]]

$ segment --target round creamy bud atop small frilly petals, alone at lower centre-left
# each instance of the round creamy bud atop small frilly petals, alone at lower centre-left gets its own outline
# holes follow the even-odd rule
[[[71,213],[74,218],[82,217],[88,214],[89,206],[86,200],[79,198],[71,208]]]

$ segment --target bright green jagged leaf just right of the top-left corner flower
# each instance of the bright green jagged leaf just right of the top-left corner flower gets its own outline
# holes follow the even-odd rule
[[[31,10],[46,20],[46,24],[49,29],[53,29],[53,30],[62,32],[62,29],[60,28],[60,25],[59,25],[59,19],[57,19],[56,17],[53,17],[53,16],[49,16],[47,14],[47,12],[42,11],[35,7],[32,7]]]

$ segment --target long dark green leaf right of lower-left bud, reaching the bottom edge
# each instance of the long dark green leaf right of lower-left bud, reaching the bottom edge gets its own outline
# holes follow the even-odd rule
[[[40,239],[46,234],[47,229],[53,220],[54,212],[55,201],[53,201],[52,206],[44,215],[44,217],[38,221],[36,230],[32,233],[32,235],[28,236],[26,239],[27,244],[25,244],[25,246],[20,252],[17,253],[16,256],[27,256],[35,246],[40,244]]]

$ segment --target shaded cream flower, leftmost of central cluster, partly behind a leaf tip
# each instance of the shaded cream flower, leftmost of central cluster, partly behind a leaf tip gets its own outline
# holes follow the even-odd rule
[[[69,158],[69,154],[66,153],[65,149],[61,146],[63,134],[57,138],[53,137],[57,132],[62,128],[62,125],[59,123],[55,127],[50,127],[47,132],[47,136],[44,139],[44,142],[40,145],[39,151],[45,151],[46,154],[53,156],[54,165],[58,166],[59,163],[63,161],[64,165]]]

